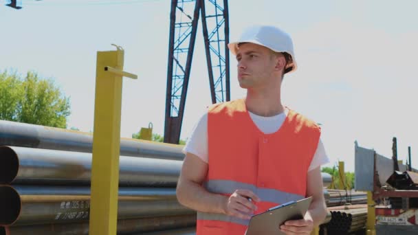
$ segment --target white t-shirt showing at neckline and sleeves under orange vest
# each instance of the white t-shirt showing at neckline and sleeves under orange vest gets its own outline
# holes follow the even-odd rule
[[[285,122],[288,109],[285,109],[283,113],[272,117],[263,117],[250,113],[250,117],[254,124],[265,134],[275,133]],[[197,155],[200,159],[208,163],[208,113],[205,113],[197,122],[195,128],[193,129],[192,135],[188,139],[186,146],[183,148],[183,153],[192,153]],[[324,145],[320,139],[318,142],[318,147],[314,157],[312,158],[311,165],[309,170],[314,170],[318,166],[327,164],[329,162],[327,153],[325,153]]]

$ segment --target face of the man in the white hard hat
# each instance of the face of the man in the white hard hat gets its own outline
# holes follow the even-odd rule
[[[277,79],[277,58],[267,47],[254,43],[239,45],[236,52],[239,85],[245,89],[257,89],[272,85]]]

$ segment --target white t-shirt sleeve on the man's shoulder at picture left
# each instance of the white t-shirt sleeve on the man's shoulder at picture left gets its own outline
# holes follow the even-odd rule
[[[208,163],[208,113],[201,116],[182,152],[192,153]]]

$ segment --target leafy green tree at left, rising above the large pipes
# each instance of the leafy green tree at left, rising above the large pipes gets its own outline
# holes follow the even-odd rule
[[[69,98],[50,79],[29,71],[0,74],[0,118],[42,126],[67,127]]]

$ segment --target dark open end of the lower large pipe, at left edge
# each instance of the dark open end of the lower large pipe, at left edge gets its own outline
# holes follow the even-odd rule
[[[10,186],[0,186],[0,226],[12,225],[21,212],[21,197]],[[6,234],[6,229],[4,234]],[[1,233],[0,233],[1,234]]]

